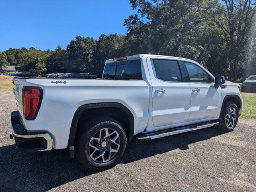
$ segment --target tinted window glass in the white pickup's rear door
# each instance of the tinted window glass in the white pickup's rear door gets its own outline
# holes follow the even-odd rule
[[[153,62],[158,79],[172,82],[182,81],[178,61],[153,59]]]

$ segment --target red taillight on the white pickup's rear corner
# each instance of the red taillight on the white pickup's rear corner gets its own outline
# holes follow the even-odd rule
[[[41,87],[23,87],[23,114],[25,119],[34,120],[41,106],[43,91]]]

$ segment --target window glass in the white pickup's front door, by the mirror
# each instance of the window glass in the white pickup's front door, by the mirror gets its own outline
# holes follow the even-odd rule
[[[202,82],[209,83],[210,76],[207,72],[205,72],[201,67],[196,64],[185,62],[186,69],[188,70],[188,76],[190,78],[190,82]]]

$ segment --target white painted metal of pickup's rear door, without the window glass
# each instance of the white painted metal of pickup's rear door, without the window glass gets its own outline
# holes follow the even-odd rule
[[[153,58],[167,58],[161,56],[147,57],[153,92],[152,117],[154,126],[166,126],[188,121],[191,97],[189,84],[184,82],[165,82],[157,79],[153,73],[151,61]],[[164,89],[166,92],[155,92],[158,89]]]

